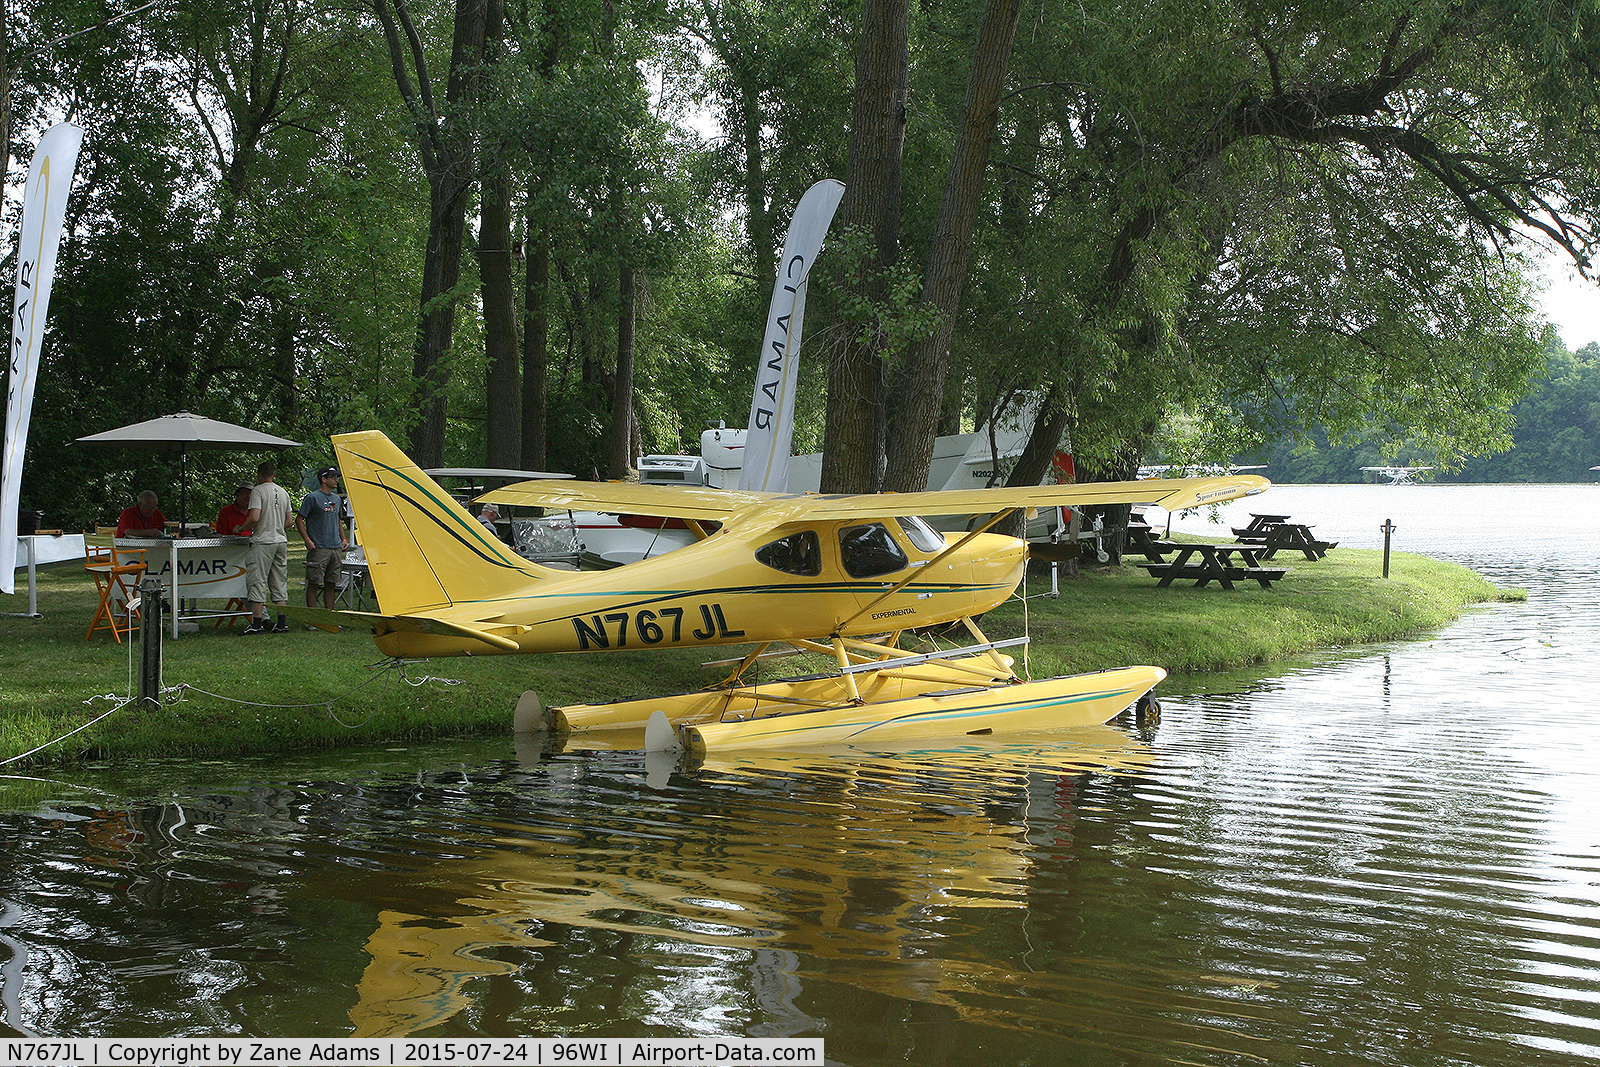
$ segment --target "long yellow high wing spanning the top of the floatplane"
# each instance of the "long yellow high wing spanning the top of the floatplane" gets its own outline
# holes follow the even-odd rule
[[[632,485],[627,482],[522,482],[477,498],[494,504],[565,507],[590,512],[662,515],[667,518],[728,520],[733,515],[771,515],[784,520],[867,518],[883,515],[989,515],[1013,507],[1085,507],[1090,504],[1154,504],[1170,512],[1254,496],[1270,482],[1259,475],[1216,478],[1144,478],[1085,482],[994,490],[930,493],[864,493],[819,496],[742,493],[693,486]]]

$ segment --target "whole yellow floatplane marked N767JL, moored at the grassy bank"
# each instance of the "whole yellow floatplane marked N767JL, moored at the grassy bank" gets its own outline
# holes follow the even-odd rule
[[[674,518],[698,542],[606,571],[560,571],[502,544],[379,432],[333,438],[381,613],[294,609],[371,629],[394,657],[749,645],[699,693],[544,709],[517,728],[646,728],[646,747],[706,749],[960,739],[1104,723],[1147,699],[1160,667],[1026,681],[976,619],[1022,579],[1027,542],[989,533],[1018,509],[1250,496],[1256,475],[866,496],[523,482],[482,501]],[[973,515],[941,534],[923,515]],[[957,648],[902,638],[958,624]],[[776,649],[829,657],[827,673],[749,681]]]

